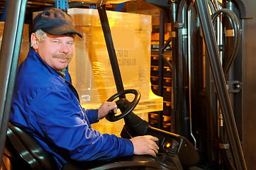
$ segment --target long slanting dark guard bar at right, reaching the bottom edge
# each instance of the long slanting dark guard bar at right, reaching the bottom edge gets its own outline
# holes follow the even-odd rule
[[[213,24],[211,21],[210,13],[208,11],[208,4],[206,0],[196,0],[196,9],[204,35],[204,41],[208,52],[208,60],[211,66],[211,72],[213,75],[218,101],[220,102],[224,120],[227,126],[228,137],[234,156],[234,162],[237,169],[247,169],[243,150],[238,136],[238,130],[235,125],[232,106],[228,96],[228,89],[226,88],[226,80],[224,77],[223,68],[221,66],[220,55],[218,53],[217,42],[213,31]]]

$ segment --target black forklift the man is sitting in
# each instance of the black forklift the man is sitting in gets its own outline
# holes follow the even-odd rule
[[[244,55],[248,54],[244,54],[245,52],[243,52],[242,47],[246,44],[244,41],[245,35],[247,35],[245,34],[245,30],[248,29],[250,33],[250,28],[253,27],[250,22],[254,21],[253,15],[255,15],[255,13],[250,11],[250,6],[252,5],[249,6],[249,4],[255,2],[251,2],[250,0],[223,2],[210,0],[148,0],[148,3],[161,8],[160,28],[162,28],[163,32],[160,32],[160,77],[162,76],[161,67],[163,67],[161,63],[167,62],[161,52],[165,50],[169,42],[172,42],[172,75],[174,77],[173,86],[175,98],[173,115],[174,118],[177,118],[175,119],[174,132],[161,130],[162,113],[158,114],[160,117],[158,122],[159,128],[152,127],[147,121],[142,120],[138,115],[133,113],[133,109],[140,100],[140,92],[134,89],[123,89],[116,52],[113,47],[113,40],[108,25],[106,8],[102,3],[96,4],[101,19],[101,26],[104,31],[104,38],[111,61],[116,89],[118,91],[117,94],[108,98],[108,101],[114,101],[116,98],[119,98],[116,103],[121,110],[121,115],[113,115],[113,113],[110,112],[106,116],[106,119],[111,122],[122,118],[124,119],[126,124],[121,132],[121,137],[130,138],[138,135],[153,135],[158,137],[160,140],[157,142],[157,145],[160,147],[160,153],[157,155],[157,158],[133,155],[132,157],[115,159],[113,162],[67,162],[64,169],[190,169],[191,166],[196,165],[200,166],[201,169],[209,169],[209,162],[211,164],[211,161],[218,162],[218,166],[215,166],[213,169],[247,169],[244,155],[245,149],[247,153],[246,160],[250,163],[248,167],[251,169],[255,165],[250,161],[251,152],[248,152],[245,143],[246,141],[252,141],[252,139],[250,134],[247,135],[248,132],[243,131],[247,130],[250,123],[246,125],[246,123],[241,123],[241,120],[239,120],[239,118],[242,117],[243,121],[250,118],[250,115],[247,115],[247,109],[243,107],[247,106],[247,104],[250,103],[249,101],[255,101],[255,99],[241,94],[242,91],[246,89],[246,86],[243,86],[243,90],[241,88],[243,81],[251,82],[249,81],[251,77],[244,76],[244,73],[241,73],[242,70],[238,70],[238,72],[240,72],[238,75],[243,77],[243,79],[240,77],[232,77],[230,70],[235,72],[233,63],[236,63],[235,59],[237,58],[240,60],[238,64],[235,65],[235,69],[243,69],[243,66],[239,65],[242,60],[245,60],[243,63],[250,63],[247,62],[248,59],[244,59]],[[2,144],[6,145],[1,145],[0,155],[1,159],[9,160],[11,164],[9,167],[6,167],[5,164],[4,167],[3,161],[1,167],[3,167],[3,169],[21,169],[21,167],[23,167],[23,169],[56,169],[52,155],[45,152],[26,131],[9,123],[9,113],[11,110],[13,86],[18,65],[18,54],[21,48],[26,6],[27,1],[9,0],[6,11],[6,22],[0,52],[0,75],[3,80],[1,81],[0,92],[0,140]],[[219,18],[221,14],[223,18]],[[195,25],[193,25],[194,23],[189,23],[189,21],[194,20],[197,20],[194,22]],[[221,21],[224,20],[227,26],[222,27],[227,31],[225,35],[220,35],[223,32],[220,26],[222,24]],[[172,33],[167,42],[162,39],[165,32],[165,22],[171,23],[172,25]],[[228,28],[232,30],[231,38],[227,38]],[[200,37],[199,41],[201,43],[191,43],[194,40],[193,38],[196,38],[196,36],[194,36],[195,32],[197,36]],[[188,35],[193,35],[194,37],[189,39]],[[228,45],[223,45],[223,42],[220,41],[221,36],[226,36],[228,40],[224,43]],[[203,41],[204,43],[202,43]],[[202,50],[199,50],[200,54],[196,53],[196,47],[206,49],[206,72],[204,74],[204,76],[207,75],[205,78],[206,86],[202,86],[199,82],[191,80],[191,77],[196,77],[194,74],[197,75],[196,72],[198,72],[198,70],[195,69],[195,65],[190,65],[190,67],[192,66],[192,69],[194,69],[192,74],[189,74],[191,72],[187,70],[191,69],[189,64],[199,62],[195,55],[201,55],[200,52]],[[249,47],[250,45],[245,48],[248,52],[251,52],[252,50],[249,49]],[[190,52],[192,52],[190,57],[193,56],[194,60],[188,62]],[[223,57],[221,57],[222,54]],[[161,86],[162,82],[159,81],[159,87],[161,88]],[[191,100],[191,98],[195,97],[191,94],[197,89],[190,88],[195,86],[200,86],[201,89],[206,87],[204,89],[205,96],[210,96],[210,100],[207,103],[209,106],[205,107],[205,109],[208,111],[207,113],[218,117],[215,120],[207,120],[207,123],[216,123],[218,120],[223,120],[224,122],[224,125],[219,123],[217,127],[218,137],[206,139],[200,133],[205,130],[205,127],[202,129],[200,125],[193,125],[191,121],[196,122],[196,120],[200,120],[199,117],[204,114],[204,112],[199,111],[197,118],[191,116],[191,113],[196,111],[196,106],[200,105],[198,100]],[[248,91],[248,89],[246,89],[246,91]],[[230,95],[230,93],[233,93],[233,95]],[[133,101],[128,101],[126,94],[134,94],[135,98]],[[197,91],[196,95],[198,96],[199,94],[200,93]],[[159,90],[159,95],[162,96],[161,89]],[[233,101],[238,101],[240,105],[243,101],[243,107],[238,108],[238,110],[234,112],[233,110],[237,105],[234,106],[234,102],[231,103],[231,97],[234,98]],[[248,103],[245,103],[247,101]],[[236,111],[238,111],[238,113],[236,113]],[[219,119],[219,117],[222,119]],[[208,115],[206,115],[206,118],[208,118]],[[254,119],[252,119],[252,121]],[[237,123],[240,124],[237,126]],[[197,130],[197,137],[191,135],[192,127]],[[206,132],[215,134],[215,130],[206,130]],[[250,137],[250,139],[247,139],[247,137]],[[218,156],[216,156],[216,152],[213,151],[213,149],[216,149],[216,146],[202,146],[204,141],[213,141],[213,138],[218,138],[218,142],[216,142],[218,143]],[[199,144],[196,144],[196,140],[199,140]],[[228,144],[224,143],[224,141]],[[194,145],[192,145],[192,142],[194,142]],[[250,145],[250,147],[253,146]],[[220,150],[224,149],[224,152],[220,152]],[[208,156],[208,154],[213,156],[204,160],[205,156]]]

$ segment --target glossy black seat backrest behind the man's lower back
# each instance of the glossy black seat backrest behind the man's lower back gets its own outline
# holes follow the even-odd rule
[[[46,152],[28,132],[9,123],[6,145],[12,147],[18,153],[19,158],[27,162],[31,169],[57,169],[57,164],[52,154]],[[16,154],[13,154],[16,155]],[[22,169],[22,167],[20,167]]]

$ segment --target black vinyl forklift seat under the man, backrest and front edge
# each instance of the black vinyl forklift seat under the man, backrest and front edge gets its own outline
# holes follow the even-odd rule
[[[4,170],[57,170],[57,164],[52,154],[46,152],[38,142],[25,130],[9,123],[4,148]],[[141,155],[121,157],[112,162],[68,161],[62,170],[84,169],[160,169],[159,162]]]

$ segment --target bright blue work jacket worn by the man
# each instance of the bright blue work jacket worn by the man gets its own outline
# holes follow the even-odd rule
[[[61,169],[68,159],[111,160],[133,154],[130,140],[91,128],[98,110],[79,103],[77,91],[32,48],[18,67],[10,122],[28,131]]]

